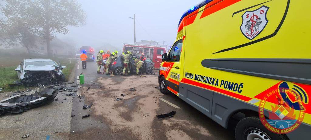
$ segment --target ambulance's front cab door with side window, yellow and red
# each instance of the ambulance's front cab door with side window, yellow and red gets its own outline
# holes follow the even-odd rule
[[[183,46],[183,40],[178,40],[174,43],[171,50],[168,54],[168,63],[170,63],[172,66],[171,70],[169,71],[169,74],[167,75],[167,89],[177,96],[179,96],[179,82],[181,81],[180,78],[180,54],[181,49]]]

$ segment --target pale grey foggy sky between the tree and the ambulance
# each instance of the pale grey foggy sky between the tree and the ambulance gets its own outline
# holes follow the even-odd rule
[[[86,12],[86,25],[69,27],[69,34],[58,34],[62,40],[80,46],[98,47],[109,43],[123,48],[133,43],[133,14],[136,16],[136,41],[163,40],[172,44],[182,14],[202,0],[78,0]],[[69,42],[68,42],[69,43]]]

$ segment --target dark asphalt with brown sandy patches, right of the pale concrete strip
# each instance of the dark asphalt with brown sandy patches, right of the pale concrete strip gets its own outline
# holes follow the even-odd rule
[[[79,88],[85,99],[73,100],[71,114],[76,117],[71,119],[70,131],[75,132],[70,139],[234,139],[232,128],[221,127],[174,94],[162,94],[155,88],[157,74],[110,77],[97,74],[95,62],[87,62],[86,69],[81,62],[78,65],[76,75],[85,75]],[[137,91],[128,91],[132,87]],[[82,109],[91,102],[91,108]],[[156,118],[173,110],[177,112],[173,118]],[[86,114],[90,117],[82,119]]]

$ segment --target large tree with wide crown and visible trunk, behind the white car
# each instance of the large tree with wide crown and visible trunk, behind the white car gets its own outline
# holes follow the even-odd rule
[[[6,13],[4,24],[23,19],[22,23],[25,23],[30,34],[44,38],[49,56],[52,56],[50,41],[56,33],[67,34],[69,26],[77,27],[85,24],[86,14],[76,0],[3,1],[6,3],[1,9]]]

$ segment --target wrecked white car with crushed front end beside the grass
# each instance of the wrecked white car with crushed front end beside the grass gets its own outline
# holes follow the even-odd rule
[[[56,82],[65,81],[65,75],[62,69],[66,66],[61,66],[58,62],[55,63],[51,59],[24,59],[21,64],[15,69],[17,77],[21,80],[9,86],[34,86],[38,83],[41,85],[53,84]]]

